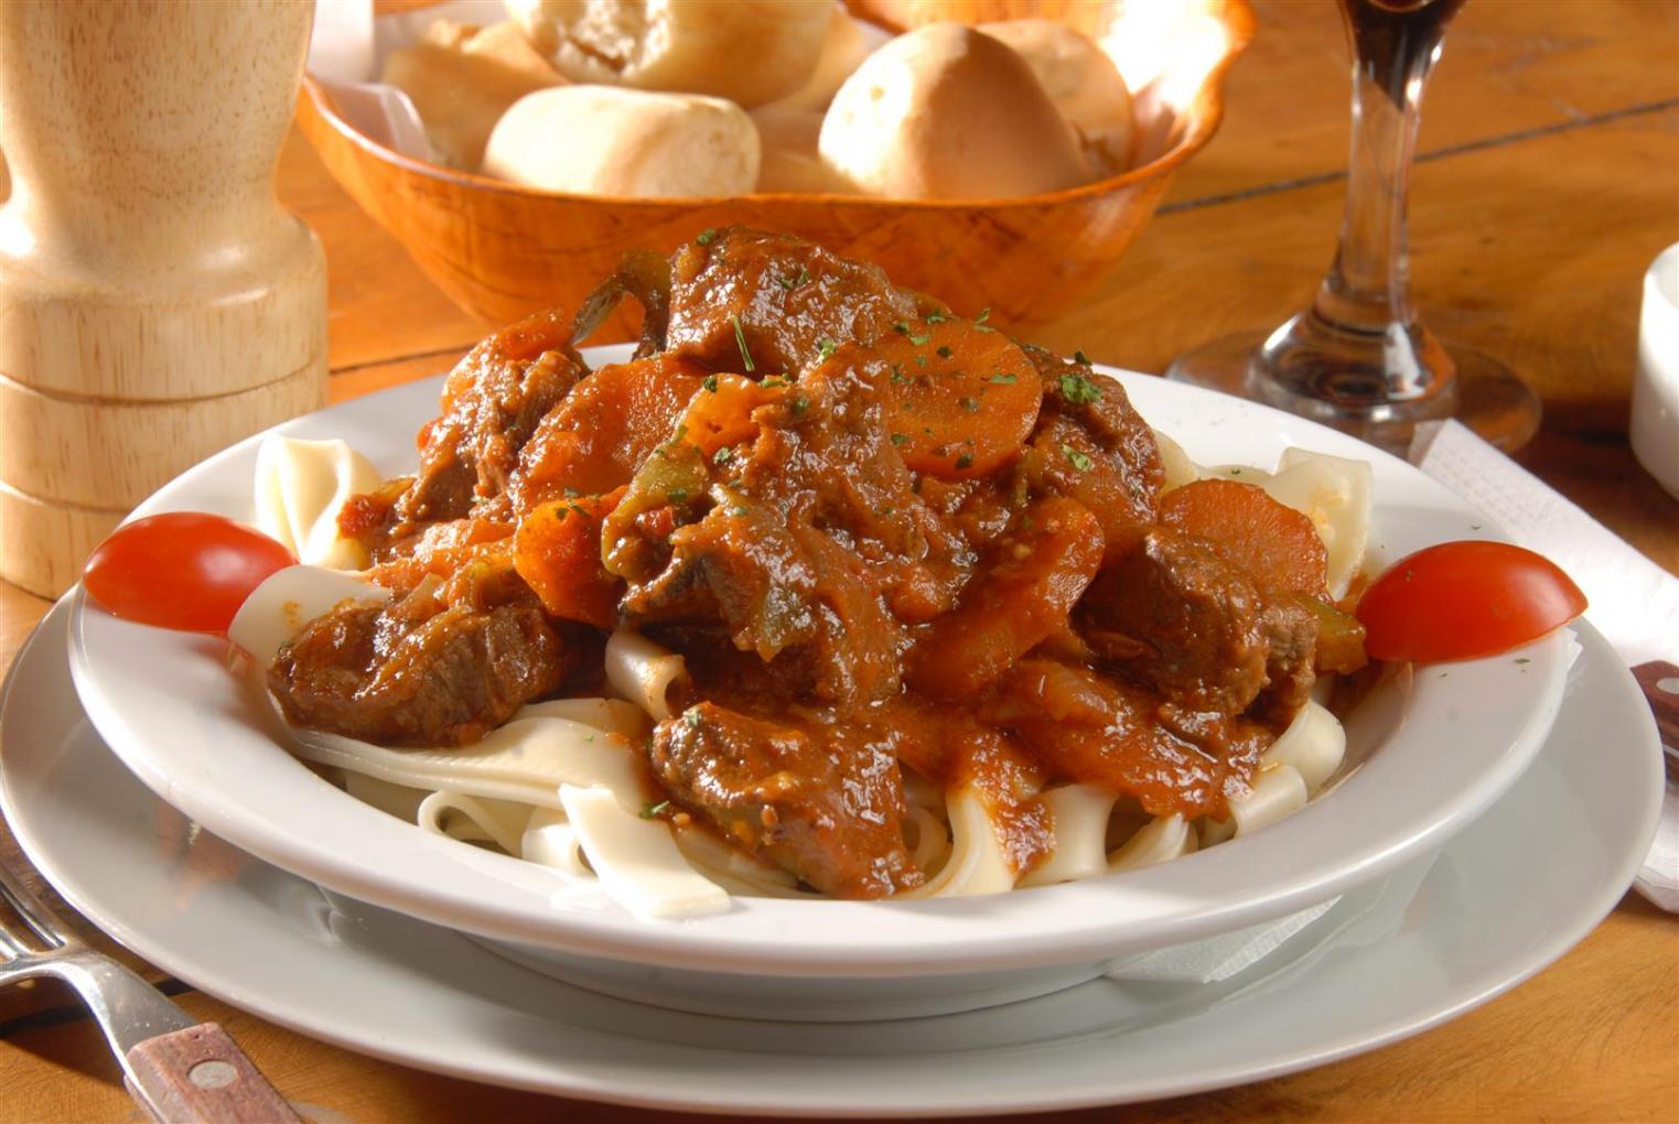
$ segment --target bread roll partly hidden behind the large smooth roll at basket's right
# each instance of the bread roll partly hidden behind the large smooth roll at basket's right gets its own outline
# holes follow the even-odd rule
[[[1132,164],[1132,92],[1101,47],[1054,20],[981,23],[1033,69],[1044,92],[1078,133],[1085,158],[1100,174]]]

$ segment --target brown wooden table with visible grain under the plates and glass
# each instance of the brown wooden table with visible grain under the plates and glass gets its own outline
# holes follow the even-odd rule
[[[1222,133],[1111,278],[1043,342],[1160,371],[1310,299],[1340,220],[1347,52],[1325,0],[1256,7],[1259,37],[1231,79]],[[1679,502],[1625,436],[1640,282],[1679,240],[1679,3],[1476,0],[1446,42],[1414,181],[1417,302],[1439,334],[1503,357],[1541,393],[1545,429],[1519,460],[1679,572]],[[334,399],[442,371],[489,327],[426,284],[296,136],[280,185],[327,247]],[[0,666],[45,609],[0,585]],[[17,859],[3,832],[0,852]],[[680,1119],[374,1062],[165,986],[227,1025],[322,1121]],[[0,993],[0,1121],[134,1112],[69,995]],[[1039,1119],[1679,1121],[1679,918],[1627,896],[1535,980],[1358,1059]]]

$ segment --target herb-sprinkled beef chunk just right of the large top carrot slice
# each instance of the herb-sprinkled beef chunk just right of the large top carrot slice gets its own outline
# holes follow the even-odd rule
[[[1041,347],[1026,347],[1026,354],[1044,386],[1038,428],[1021,461],[1028,487],[1034,495],[1071,497],[1095,512],[1106,559],[1117,560],[1155,522],[1165,470],[1153,429],[1132,408],[1125,388],[1090,364]]]

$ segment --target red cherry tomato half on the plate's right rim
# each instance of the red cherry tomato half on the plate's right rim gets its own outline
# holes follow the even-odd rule
[[[1479,659],[1585,612],[1550,559],[1506,542],[1442,542],[1390,565],[1358,599],[1373,659]]]

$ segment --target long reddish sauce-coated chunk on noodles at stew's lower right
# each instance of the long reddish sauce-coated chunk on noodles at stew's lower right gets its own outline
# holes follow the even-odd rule
[[[1130,794],[1150,815],[1222,819],[1273,740],[1244,718],[1190,711],[1038,658],[1014,666],[982,718],[1011,730],[1049,773]]]

